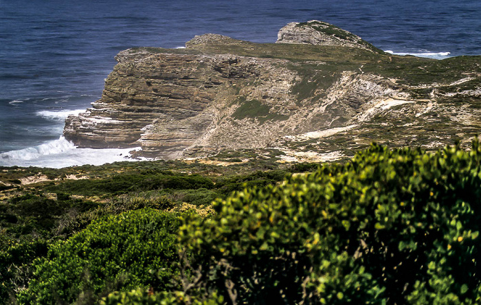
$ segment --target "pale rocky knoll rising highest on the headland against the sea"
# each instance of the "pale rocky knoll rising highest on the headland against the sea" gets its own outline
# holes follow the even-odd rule
[[[276,43],[295,43],[308,45],[338,45],[342,47],[358,47],[379,52],[361,37],[342,30],[324,21],[311,20],[304,23],[291,22],[278,32]]]

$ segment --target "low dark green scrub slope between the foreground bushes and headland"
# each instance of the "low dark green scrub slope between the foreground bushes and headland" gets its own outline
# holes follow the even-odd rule
[[[92,221],[144,208],[195,207],[207,214],[214,199],[241,190],[245,183],[276,183],[289,172],[260,171],[268,163],[268,167],[276,164],[272,159],[259,159],[229,167],[151,161],[61,170],[3,168],[0,179],[5,183],[41,174],[59,180],[16,184],[0,193],[0,304],[10,304],[28,286],[36,258],[45,257],[58,240],[67,240]],[[63,180],[72,174],[91,178]]]

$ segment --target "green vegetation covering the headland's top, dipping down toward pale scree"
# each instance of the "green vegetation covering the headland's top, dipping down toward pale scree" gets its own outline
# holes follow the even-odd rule
[[[303,26],[306,23],[300,23]],[[317,30],[334,36],[349,38],[346,32],[333,25],[324,28],[314,24]],[[361,41],[372,47],[369,43]],[[250,43],[247,41],[232,41],[223,44],[196,45],[195,48],[162,49],[162,48],[135,48],[132,52],[145,50],[152,53],[176,54],[236,54],[238,56],[251,56],[258,58],[278,58],[290,60],[293,64],[290,69],[298,71],[302,76],[301,83],[294,89],[304,98],[309,98],[316,84],[320,88],[328,87],[339,79],[343,71],[361,71],[374,74],[383,78],[394,78],[398,85],[422,86],[423,84],[439,84],[440,90],[449,91],[451,82],[462,78],[473,77],[474,80],[462,84],[462,90],[476,89],[479,87],[481,56],[458,56],[435,60],[415,56],[396,56],[387,54],[372,47],[372,51],[355,47],[342,47],[331,45],[292,45],[284,43]],[[316,63],[313,63],[316,62]],[[322,64],[322,65],[320,65]],[[320,65],[317,67],[317,65]],[[304,87],[306,90],[304,90]],[[458,87],[456,87],[458,88]],[[416,93],[416,90],[419,92]],[[416,98],[426,98],[431,91],[423,92],[425,88],[410,89]],[[300,97],[302,100],[302,97]]]

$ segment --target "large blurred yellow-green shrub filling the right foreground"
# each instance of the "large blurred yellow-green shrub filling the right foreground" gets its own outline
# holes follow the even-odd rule
[[[481,302],[481,148],[373,144],[180,229],[193,286],[249,304]],[[194,285],[195,284],[195,285]]]

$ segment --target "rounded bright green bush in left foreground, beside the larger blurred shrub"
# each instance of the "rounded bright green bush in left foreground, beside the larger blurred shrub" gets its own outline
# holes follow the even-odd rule
[[[164,290],[178,269],[178,226],[174,214],[150,209],[94,221],[34,261],[34,279],[19,303],[91,303],[115,290]]]

